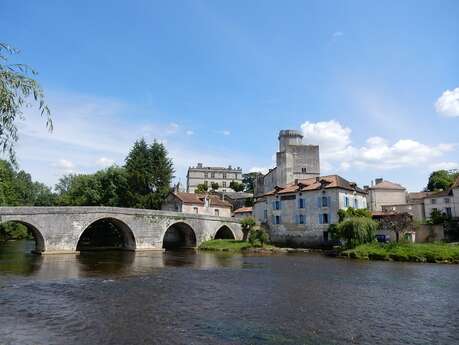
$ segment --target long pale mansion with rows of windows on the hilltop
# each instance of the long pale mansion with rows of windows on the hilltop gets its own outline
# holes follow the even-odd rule
[[[188,193],[194,193],[199,184],[207,184],[209,188],[212,183],[218,183],[218,190],[222,192],[234,192],[230,188],[230,183],[236,181],[242,183],[242,169],[233,168],[231,165],[227,168],[206,167],[198,163],[195,167],[189,167],[186,175]]]

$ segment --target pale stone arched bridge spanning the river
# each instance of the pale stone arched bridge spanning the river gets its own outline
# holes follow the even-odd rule
[[[35,238],[35,252],[76,253],[84,234],[107,225],[116,228],[120,249],[162,250],[168,245],[197,247],[214,238],[242,239],[233,218],[117,207],[0,207],[0,224],[25,225]]]

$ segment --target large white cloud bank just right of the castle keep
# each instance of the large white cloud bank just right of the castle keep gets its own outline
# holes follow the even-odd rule
[[[434,164],[454,150],[452,144],[427,145],[412,139],[390,143],[381,137],[370,137],[365,145],[356,147],[351,142],[351,129],[335,120],[305,122],[301,125],[304,140],[320,145],[322,170],[333,172],[355,166],[387,170]]]

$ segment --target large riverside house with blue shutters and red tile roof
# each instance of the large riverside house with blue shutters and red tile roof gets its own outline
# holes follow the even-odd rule
[[[253,214],[268,226],[271,240],[292,246],[320,246],[338,210],[367,208],[366,192],[338,175],[298,179],[259,196]]]

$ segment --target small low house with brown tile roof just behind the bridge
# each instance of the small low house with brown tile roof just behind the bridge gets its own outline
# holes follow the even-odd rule
[[[231,204],[216,195],[171,192],[161,210],[231,217]]]

